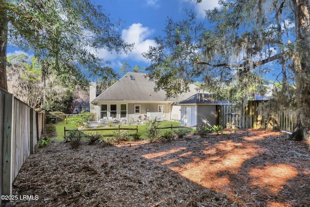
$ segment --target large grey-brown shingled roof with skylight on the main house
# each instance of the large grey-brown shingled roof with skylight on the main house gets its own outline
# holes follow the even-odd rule
[[[169,101],[177,102],[197,93],[197,86],[191,84],[190,92],[180,95],[178,98],[166,99],[166,92],[154,91],[155,83],[146,77],[145,73],[129,72],[123,78],[111,85],[106,91],[97,96],[92,102],[101,101]],[[201,90],[202,91],[202,90]],[[205,92],[207,93],[207,92]]]

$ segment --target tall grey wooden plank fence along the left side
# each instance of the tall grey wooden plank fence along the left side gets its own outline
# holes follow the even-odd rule
[[[13,181],[43,131],[44,113],[0,89],[0,126],[0,194],[12,195]]]

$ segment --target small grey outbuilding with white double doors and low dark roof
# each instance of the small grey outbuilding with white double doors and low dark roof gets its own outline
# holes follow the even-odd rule
[[[196,126],[201,123],[217,125],[217,106],[228,105],[227,101],[217,101],[212,94],[197,93],[178,102],[181,106],[181,126]]]

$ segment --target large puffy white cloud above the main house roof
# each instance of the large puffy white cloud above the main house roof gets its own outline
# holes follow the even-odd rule
[[[143,27],[140,23],[132,24],[128,29],[122,31],[122,38],[128,43],[134,43],[134,49],[129,55],[110,53],[107,50],[100,50],[99,56],[105,60],[112,61],[115,59],[130,59],[137,62],[145,62],[147,60],[141,53],[146,52],[150,46],[156,46],[152,39],[147,39],[154,31],[148,27]]]

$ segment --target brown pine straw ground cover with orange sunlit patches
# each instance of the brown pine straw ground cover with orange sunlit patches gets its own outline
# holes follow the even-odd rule
[[[288,152],[298,152],[297,156]],[[300,154],[299,154],[300,155]],[[126,142],[77,150],[52,142],[20,170],[11,206],[307,207],[310,145],[285,133],[238,130],[169,143]],[[305,157],[303,157],[305,156]]]

